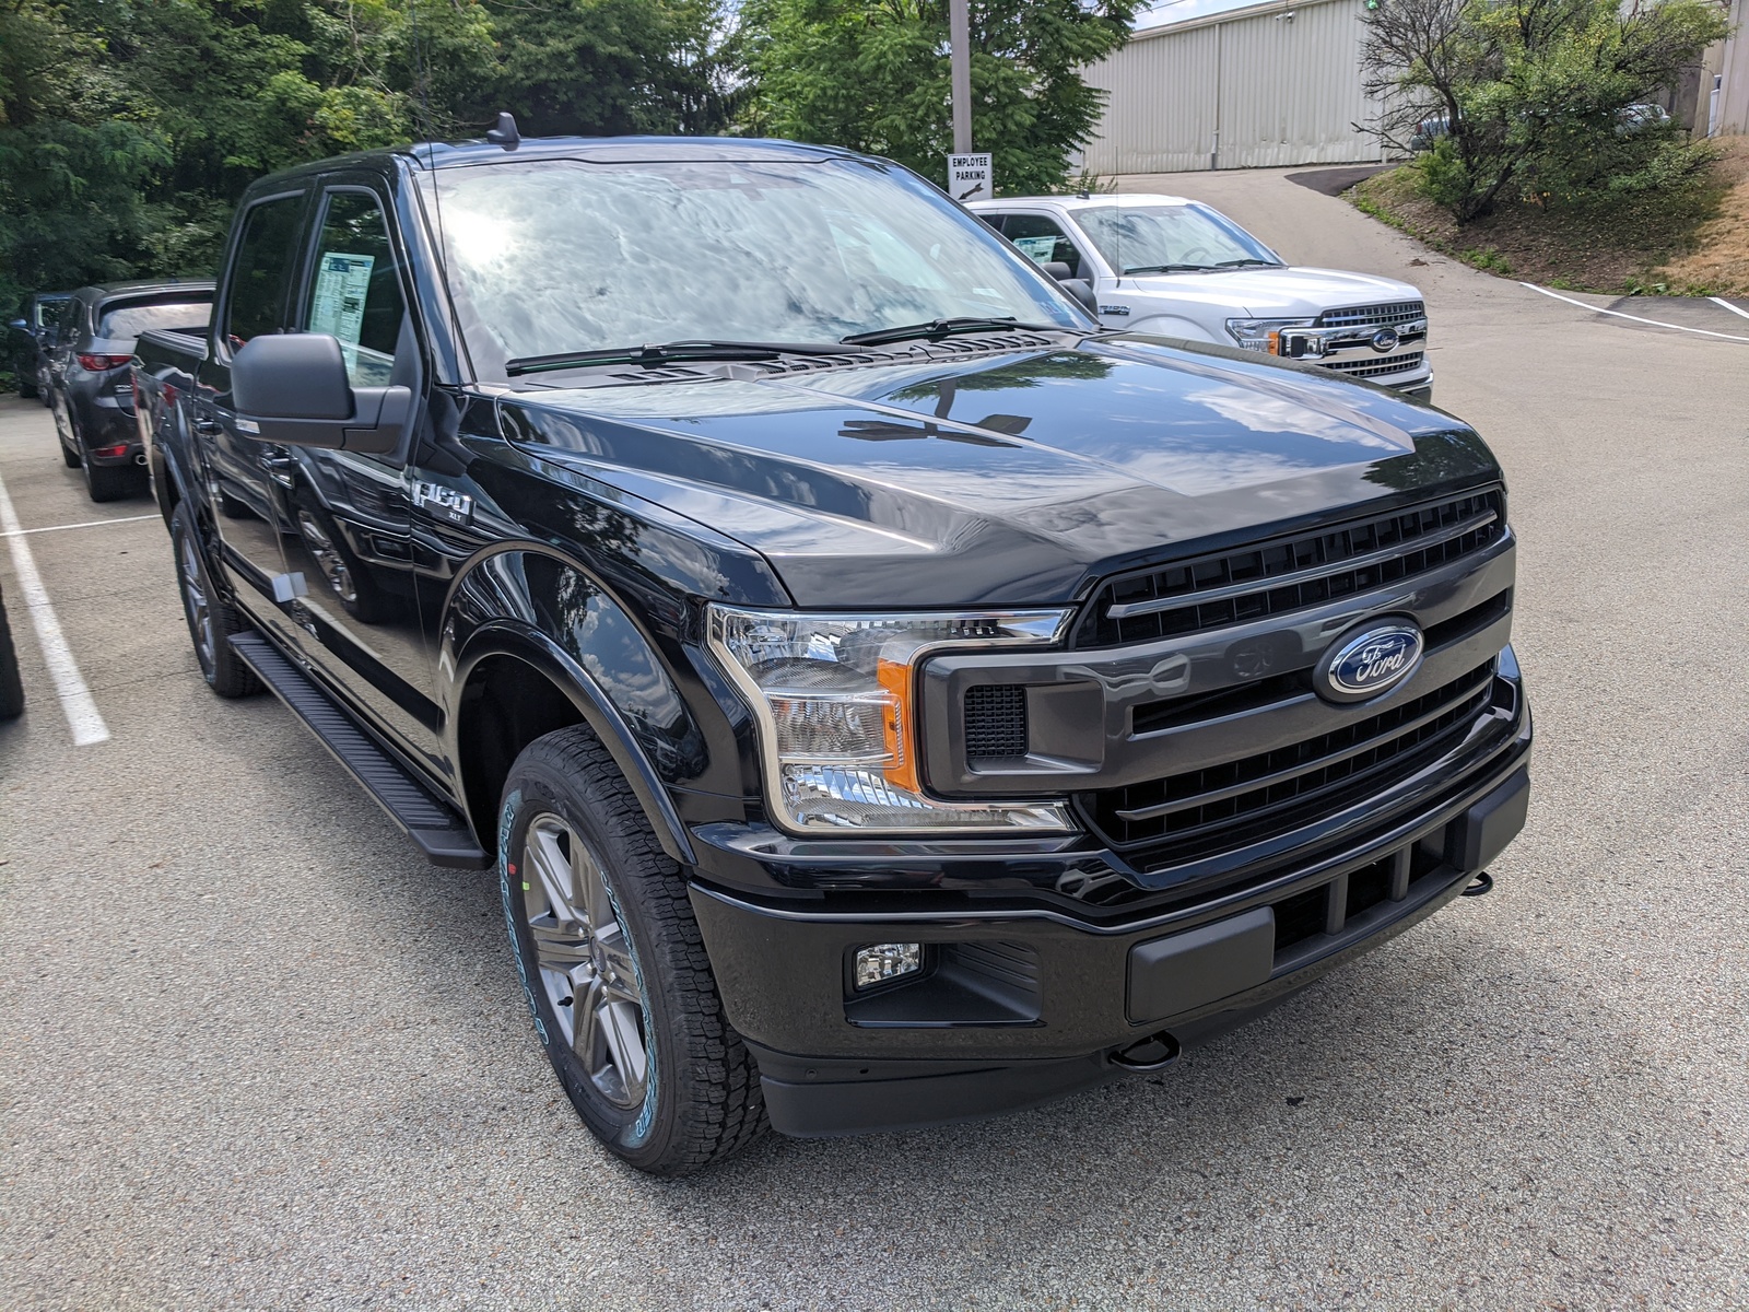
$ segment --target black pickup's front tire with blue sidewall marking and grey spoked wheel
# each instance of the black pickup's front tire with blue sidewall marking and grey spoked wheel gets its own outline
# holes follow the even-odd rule
[[[598,925],[551,913],[547,880],[532,868],[540,864],[539,854],[530,855],[537,826],[544,834],[563,829],[595,859],[614,915],[600,936]],[[575,862],[574,847],[570,854]],[[652,1176],[687,1176],[764,1134],[759,1071],[722,1013],[680,868],[661,850],[612,756],[588,728],[549,733],[511,766],[498,810],[498,883],[535,1032],[577,1114],[614,1156]],[[560,948],[575,955],[558,957],[575,962],[568,976],[540,969],[532,922],[544,927],[549,964],[553,945],[567,927],[575,931],[572,946]],[[626,987],[626,964],[635,990]],[[554,1001],[553,994],[577,983],[579,973],[593,973],[589,997],[612,995],[605,980],[628,999],[612,1006],[642,1004],[635,1013],[649,1072],[642,1086],[628,1088],[623,1078],[616,1085],[617,1065],[591,1074],[574,1051],[570,999]],[[610,1029],[603,1020],[596,1032]],[[619,1051],[605,1039],[595,1050]]]

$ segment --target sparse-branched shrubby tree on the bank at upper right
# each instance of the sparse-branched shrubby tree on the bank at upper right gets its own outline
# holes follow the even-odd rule
[[[1712,0],[1383,0],[1361,61],[1376,135],[1422,147],[1459,222],[1497,201],[1585,203],[1700,168],[1704,143],[1630,110],[1726,31]]]

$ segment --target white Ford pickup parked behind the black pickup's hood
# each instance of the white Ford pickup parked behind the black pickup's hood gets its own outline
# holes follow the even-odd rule
[[[1065,280],[1102,324],[1216,341],[1432,395],[1427,306],[1396,278],[1289,266],[1226,215],[1182,196],[974,201],[979,219]]]

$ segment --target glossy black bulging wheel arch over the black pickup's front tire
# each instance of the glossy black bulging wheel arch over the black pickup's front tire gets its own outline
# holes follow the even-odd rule
[[[462,703],[495,656],[521,661],[565,694],[612,752],[668,855],[693,864],[670,787],[698,780],[710,752],[658,639],[575,562],[530,548],[479,560],[449,590],[439,653],[439,670],[453,672],[442,680],[444,747],[458,766]],[[476,833],[491,831],[491,817],[470,819]]]

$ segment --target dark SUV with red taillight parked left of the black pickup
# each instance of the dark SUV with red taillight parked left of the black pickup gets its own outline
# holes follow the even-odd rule
[[[80,287],[61,310],[49,367],[49,408],[68,469],[82,469],[91,500],[145,488],[133,413],[133,341],[145,329],[203,332],[212,282],[161,278]]]

